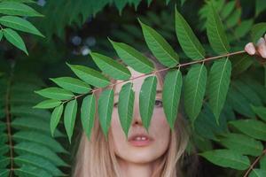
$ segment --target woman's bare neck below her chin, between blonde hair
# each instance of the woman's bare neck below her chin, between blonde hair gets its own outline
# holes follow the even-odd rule
[[[129,161],[125,161],[121,158],[118,158],[118,163],[121,168],[121,175],[127,177],[151,177],[153,174],[153,170],[156,169],[156,166],[159,165],[159,161],[155,160],[149,163],[133,163]]]

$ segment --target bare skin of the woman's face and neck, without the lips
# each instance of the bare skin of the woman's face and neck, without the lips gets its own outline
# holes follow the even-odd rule
[[[128,67],[131,77],[137,77],[143,73],[137,73],[131,67]],[[151,74],[152,75],[152,74]],[[151,76],[149,75],[149,76]],[[155,75],[153,73],[153,75]],[[132,133],[146,133],[145,127],[142,124],[139,113],[138,96],[145,77],[140,77],[133,81],[133,91],[135,92],[134,110],[131,126],[129,127],[129,137]],[[158,79],[158,78],[157,78]],[[119,94],[123,84],[117,84],[114,89],[114,94]],[[160,82],[157,82],[157,90],[161,90]],[[156,165],[160,162],[160,157],[168,150],[170,140],[170,127],[168,126],[165,114],[162,108],[161,93],[157,93],[156,103],[154,105],[153,117],[149,127],[149,135],[154,141],[145,147],[132,146],[122,131],[117,104],[119,95],[114,96],[114,107],[111,122],[111,131],[113,134],[114,152],[118,158],[121,167],[122,176],[127,177],[150,177]],[[116,106],[115,106],[116,105]]]

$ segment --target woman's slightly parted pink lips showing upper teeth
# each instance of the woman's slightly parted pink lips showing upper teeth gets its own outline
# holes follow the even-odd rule
[[[148,135],[133,135],[129,138],[129,143],[136,147],[148,146],[152,142],[153,138]]]

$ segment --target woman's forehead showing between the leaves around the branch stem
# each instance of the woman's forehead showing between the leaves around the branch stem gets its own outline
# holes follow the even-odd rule
[[[157,77],[157,90],[162,89],[160,86],[159,78],[155,73],[145,75],[144,73],[138,73],[137,71],[133,70],[131,67],[128,67],[128,69],[131,73],[131,79],[136,78],[136,77],[138,77],[138,78],[134,79],[134,80],[124,81],[124,82],[121,82],[121,80],[117,80],[116,82],[121,82],[121,83],[115,85],[114,93],[119,93],[121,90],[121,87],[128,82],[132,82],[133,83],[132,89],[135,92],[139,92],[143,82],[145,81],[145,78],[150,77],[150,76],[156,76]],[[142,77],[139,77],[139,76],[142,76]],[[160,91],[158,93],[160,93]]]

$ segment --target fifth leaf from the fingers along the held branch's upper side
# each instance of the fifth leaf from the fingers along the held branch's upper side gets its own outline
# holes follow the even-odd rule
[[[124,65],[96,52],[90,52],[90,56],[103,73],[110,75],[115,80],[129,80],[131,73]]]

